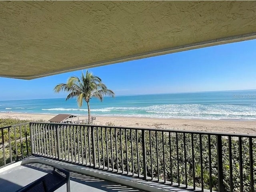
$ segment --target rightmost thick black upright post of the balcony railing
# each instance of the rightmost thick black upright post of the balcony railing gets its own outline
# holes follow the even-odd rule
[[[221,135],[217,137],[217,163],[218,163],[218,192],[224,192],[223,183],[223,164],[222,164],[222,138]]]

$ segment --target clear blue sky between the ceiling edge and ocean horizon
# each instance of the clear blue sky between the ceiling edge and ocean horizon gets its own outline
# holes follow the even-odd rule
[[[88,69],[116,95],[256,89],[256,40]],[[84,70],[85,71],[85,70]],[[0,78],[0,100],[64,98],[56,84],[81,71],[17,80]]]

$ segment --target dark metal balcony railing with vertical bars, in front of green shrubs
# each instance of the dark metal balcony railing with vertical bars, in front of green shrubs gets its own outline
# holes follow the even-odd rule
[[[192,191],[256,187],[256,135],[38,122],[0,129],[3,165],[36,154]]]

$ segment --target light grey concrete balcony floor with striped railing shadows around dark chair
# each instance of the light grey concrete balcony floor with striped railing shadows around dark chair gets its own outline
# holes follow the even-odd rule
[[[52,166],[29,163],[16,166],[0,174],[0,192],[15,192],[53,170]],[[72,192],[145,192],[101,178],[70,171]],[[66,184],[56,192],[66,192]]]

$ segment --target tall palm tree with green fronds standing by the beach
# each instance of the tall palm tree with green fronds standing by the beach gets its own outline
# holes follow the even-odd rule
[[[85,100],[88,107],[88,124],[90,124],[90,99],[98,98],[103,100],[104,96],[112,96],[115,94],[109,90],[105,84],[102,83],[101,78],[94,76],[92,73],[86,71],[86,76],[82,72],[82,76],[70,77],[67,83],[58,84],[54,87],[54,91],[59,93],[61,91],[68,92],[66,100],[70,98],[77,98],[78,107],[81,108]]]

